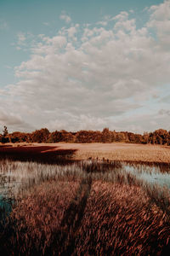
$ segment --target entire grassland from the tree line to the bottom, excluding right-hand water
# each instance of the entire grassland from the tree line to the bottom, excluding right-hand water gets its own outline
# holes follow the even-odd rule
[[[3,205],[13,202],[0,225],[0,254],[168,255],[169,189],[127,172],[124,160],[136,172],[168,175],[169,149],[123,143],[2,147],[0,184],[10,188],[2,190]]]

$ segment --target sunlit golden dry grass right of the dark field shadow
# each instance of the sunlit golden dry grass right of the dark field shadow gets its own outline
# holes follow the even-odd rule
[[[170,163],[170,147],[126,143],[99,144],[99,148],[97,146],[81,147],[74,155],[74,159],[87,160],[91,157],[92,159]]]

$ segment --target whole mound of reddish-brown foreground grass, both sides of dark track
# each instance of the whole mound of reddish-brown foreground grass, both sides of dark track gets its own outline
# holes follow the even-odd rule
[[[42,183],[11,217],[6,255],[164,255],[170,248],[166,212],[121,180]]]

